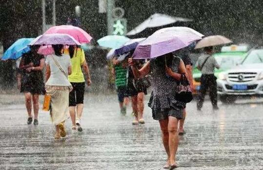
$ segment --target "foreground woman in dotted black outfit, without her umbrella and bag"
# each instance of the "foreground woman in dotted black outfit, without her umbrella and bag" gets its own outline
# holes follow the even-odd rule
[[[132,58],[129,58],[129,64],[136,78],[152,72],[153,92],[148,105],[152,109],[153,118],[159,120],[162,130],[162,142],[167,153],[167,162],[163,168],[173,170],[177,168],[178,122],[185,108],[185,103],[175,98],[178,93],[175,81],[179,81],[182,74],[187,75],[185,66],[179,57],[173,57],[171,53],[151,59],[140,70],[134,66]]]

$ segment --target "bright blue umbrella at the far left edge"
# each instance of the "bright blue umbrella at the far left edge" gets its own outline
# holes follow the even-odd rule
[[[24,53],[30,51],[30,47],[27,46],[34,38],[21,38],[12,44],[3,54],[2,60],[18,59]]]

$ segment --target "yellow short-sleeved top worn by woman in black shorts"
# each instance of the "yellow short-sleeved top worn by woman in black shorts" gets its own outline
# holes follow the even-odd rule
[[[77,53],[76,53],[77,52]],[[64,50],[65,54],[69,55],[69,50]],[[81,48],[75,48],[74,55],[72,58],[70,58],[71,61],[71,67],[72,72],[71,75],[68,76],[68,80],[73,83],[82,83],[85,82],[82,70],[81,70],[81,64],[85,60],[85,54],[84,51],[81,50]]]

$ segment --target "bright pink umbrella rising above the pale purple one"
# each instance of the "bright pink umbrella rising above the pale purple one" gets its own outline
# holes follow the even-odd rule
[[[68,34],[75,38],[80,43],[89,43],[92,37],[79,27],[72,25],[60,25],[49,28],[44,34]]]

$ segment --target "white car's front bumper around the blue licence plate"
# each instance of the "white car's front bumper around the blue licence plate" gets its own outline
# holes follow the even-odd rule
[[[234,84],[247,85],[247,90],[234,90]],[[263,80],[234,83],[218,79],[217,92],[221,95],[263,95]]]

